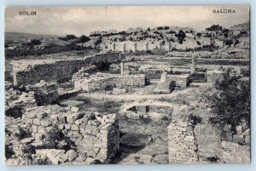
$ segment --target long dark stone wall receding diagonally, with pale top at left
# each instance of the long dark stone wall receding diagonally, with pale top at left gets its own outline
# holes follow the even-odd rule
[[[121,59],[125,59],[121,55]],[[82,67],[96,65],[100,62],[115,62],[119,60],[119,54],[96,54],[78,60],[16,60],[13,61],[14,85],[35,84],[40,80],[61,81],[70,80],[73,73]]]

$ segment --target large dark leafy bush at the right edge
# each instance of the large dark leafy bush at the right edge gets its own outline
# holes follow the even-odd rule
[[[230,124],[234,132],[236,126],[245,120],[250,124],[250,84],[241,82],[232,69],[224,70],[224,79],[218,81],[215,87],[218,94],[212,94],[209,100],[216,117],[210,117],[209,123],[224,127]]]

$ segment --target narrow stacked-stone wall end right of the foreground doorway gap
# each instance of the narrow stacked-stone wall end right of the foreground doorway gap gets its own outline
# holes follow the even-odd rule
[[[172,119],[168,126],[169,163],[197,163],[197,143],[192,123]]]

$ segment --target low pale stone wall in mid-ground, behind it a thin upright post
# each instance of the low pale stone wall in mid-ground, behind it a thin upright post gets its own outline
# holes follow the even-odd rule
[[[107,86],[114,87],[116,84],[121,86],[141,87],[146,82],[145,75],[127,75],[120,76],[116,74],[98,74],[93,77],[83,77],[74,79],[74,88],[82,89],[87,92],[95,90],[105,90]]]

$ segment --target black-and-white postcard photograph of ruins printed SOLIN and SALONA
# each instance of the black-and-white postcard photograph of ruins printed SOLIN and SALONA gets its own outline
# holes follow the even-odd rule
[[[250,163],[250,6],[4,9],[6,165]]]

